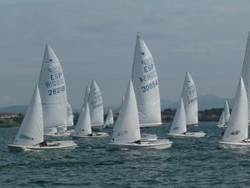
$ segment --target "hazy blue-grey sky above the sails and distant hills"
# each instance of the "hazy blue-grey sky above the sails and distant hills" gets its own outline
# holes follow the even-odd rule
[[[45,44],[59,57],[74,108],[95,79],[118,106],[142,32],[161,98],[177,100],[189,71],[199,95],[234,96],[250,30],[249,0],[0,0],[0,106],[26,105]]]

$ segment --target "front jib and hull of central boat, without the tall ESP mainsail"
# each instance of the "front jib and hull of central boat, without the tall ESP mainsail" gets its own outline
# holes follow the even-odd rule
[[[130,80],[122,103],[118,119],[113,128],[113,135],[109,143],[113,147],[122,148],[154,148],[166,149],[172,142],[168,139],[153,141],[141,140],[138,109],[133,83]]]

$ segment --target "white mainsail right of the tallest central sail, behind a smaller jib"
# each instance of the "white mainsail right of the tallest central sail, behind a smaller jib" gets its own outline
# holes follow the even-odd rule
[[[194,81],[189,72],[186,73],[182,98],[186,112],[187,125],[198,124],[198,97]]]

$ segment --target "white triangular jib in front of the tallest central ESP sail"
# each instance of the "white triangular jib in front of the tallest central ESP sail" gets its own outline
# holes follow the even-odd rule
[[[124,102],[114,126],[113,143],[131,143],[141,139],[138,109],[132,81],[129,81]]]

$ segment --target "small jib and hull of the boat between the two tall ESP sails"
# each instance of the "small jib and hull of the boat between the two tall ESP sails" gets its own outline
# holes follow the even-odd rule
[[[88,87],[86,88],[83,106],[81,108],[81,113],[78,118],[74,132],[71,133],[72,137],[105,137],[108,136],[105,132],[92,132],[91,128],[91,118],[89,111],[88,101],[85,101],[88,95]]]

